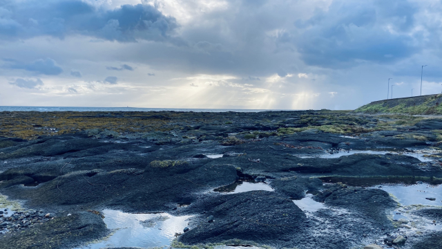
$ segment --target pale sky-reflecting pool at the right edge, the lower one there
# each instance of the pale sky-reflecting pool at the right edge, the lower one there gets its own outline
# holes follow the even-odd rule
[[[415,185],[381,185],[381,190],[393,194],[402,205],[438,205],[442,203],[442,185],[426,183]],[[430,201],[425,198],[436,198]]]

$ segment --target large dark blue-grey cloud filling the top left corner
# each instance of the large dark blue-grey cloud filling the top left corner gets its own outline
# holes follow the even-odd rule
[[[126,4],[104,10],[79,0],[2,2],[0,39],[81,34],[119,42],[162,41],[177,27],[173,17],[151,5]]]

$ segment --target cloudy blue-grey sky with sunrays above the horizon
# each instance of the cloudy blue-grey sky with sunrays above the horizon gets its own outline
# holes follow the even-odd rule
[[[0,106],[356,109],[423,65],[441,93],[441,26],[440,0],[0,0]]]

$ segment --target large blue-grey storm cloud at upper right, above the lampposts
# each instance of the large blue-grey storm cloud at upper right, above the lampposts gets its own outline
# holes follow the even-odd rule
[[[336,68],[358,60],[389,63],[419,53],[421,34],[414,27],[414,4],[403,1],[333,1],[327,10],[297,20],[296,33],[280,35],[280,42],[296,44],[311,65]],[[387,28],[389,27],[389,28]]]

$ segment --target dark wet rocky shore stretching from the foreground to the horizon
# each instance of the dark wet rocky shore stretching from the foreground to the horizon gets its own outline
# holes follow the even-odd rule
[[[364,248],[398,236],[404,248],[438,248],[436,192],[417,192],[436,199],[418,209],[378,185],[442,183],[439,120],[339,111],[37,114],[0,113],[8,124],[0,132],[10,136],[0,138],[0,193],[26,201],[15,216],[1,214],[0,248],[106,240],[103,210],[192,215],[188,230],[172,235],[175,248]],[[215,191],[241,183],[246,192]],[[412,210],[404,222],[392,217],[398,208]],[[163,218],[136,223],[158,230]]]

